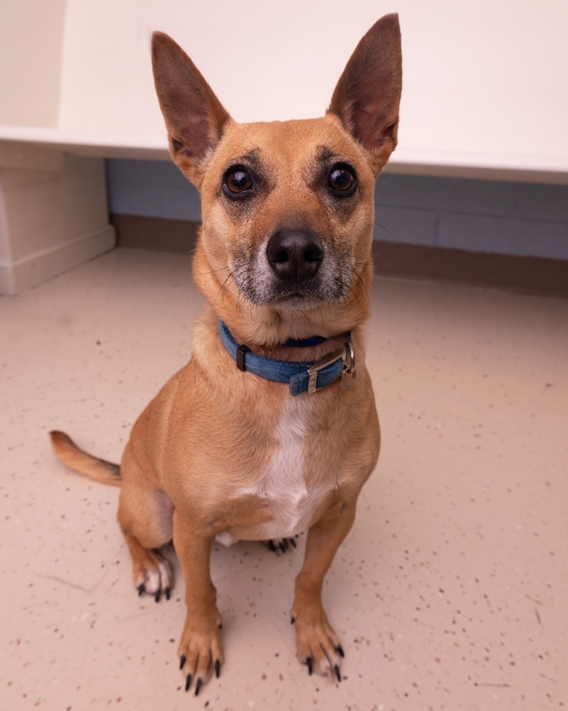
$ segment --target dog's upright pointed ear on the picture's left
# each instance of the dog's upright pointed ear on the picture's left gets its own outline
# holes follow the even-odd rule
[[[200,70],[163,32],[152,35],[152,66],[170,153],[182,173],[199,187],[204,162],[231,117]]]

